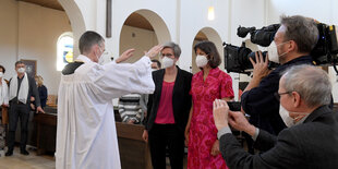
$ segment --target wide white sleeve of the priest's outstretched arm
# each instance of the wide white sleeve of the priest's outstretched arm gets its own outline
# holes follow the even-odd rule
[[[87,74],[93,82],[90,89],[102,101],[131,93],[152,94],[155,84],[150,64],[148,57],[143,57],[135,63],[95,64]]]

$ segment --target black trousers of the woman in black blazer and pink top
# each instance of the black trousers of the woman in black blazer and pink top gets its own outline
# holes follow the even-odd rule
[[[171,169],[183,169],[184,133],[176,124],[154,124],[148,134],[154,169],[166,169],[167,146]]]

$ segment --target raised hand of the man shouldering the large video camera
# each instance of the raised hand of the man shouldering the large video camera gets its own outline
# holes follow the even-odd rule
[[[255,52],[255,58],[256,62],[253,61],[253,59],[249,58],[254,70],[253,70],[253,77],[250,81],[246,88],[244,89],[244,92],[257,87],[262,79],[264,79],[270,73],[270,70],[268,69],[268,55],[266,55],[266,58],[264,60],[262,51],[258,51]]]

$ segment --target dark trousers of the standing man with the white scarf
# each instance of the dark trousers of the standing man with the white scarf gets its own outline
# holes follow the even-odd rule
[[[27,144],[27,133],[28,133],[28,119],[29,119],[29,106],[28,105],[17,105],[11,104],[9,113],[9,136],[8,146],[9,152],[13,152],[15,142],[15,131],[17,125],[17,120],[20,119],[21,124],[21,141],[20,149],[25,150]]]

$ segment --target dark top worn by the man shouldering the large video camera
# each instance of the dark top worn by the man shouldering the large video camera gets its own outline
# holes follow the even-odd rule
[[[259,85],[242,94],[242,108],[250,114],[250,123],[271,134],[278,135],[286,124],[279,116],[279,101],[274,93],[278,92],[281,73],[298,64],[313,64],[311,56],[303,56],[279,65],[262,80]]]

